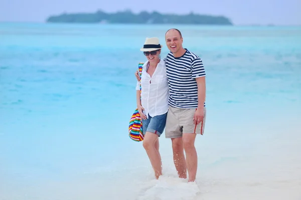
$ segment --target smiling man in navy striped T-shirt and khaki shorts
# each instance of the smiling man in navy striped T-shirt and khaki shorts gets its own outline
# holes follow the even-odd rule
[[[178,29],[169,29],[165,40],[170,49],[165,58],[170,92],[165,134],[172,139],[179,177],[187,178],[188,171],[191,182],[196,179],[198,166],[196,134],[203,134],[205,128],[206,73],[201,58],[183,48],[183,37]]]

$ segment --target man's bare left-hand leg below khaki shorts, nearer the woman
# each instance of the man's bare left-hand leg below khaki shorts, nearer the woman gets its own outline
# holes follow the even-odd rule
[[[172,138],[174,163],[180,178],[187,178],[186,160],[182,137]]]

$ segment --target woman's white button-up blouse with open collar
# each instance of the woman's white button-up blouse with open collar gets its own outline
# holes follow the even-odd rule
[[[169,87],[164,60],[160,60],[152,77],[146,72],[147,63],[148,60],[142,66],[140,81],[141,105],[148,118],[148,114],[154,117],[168,111]],[[140,90],[139,81],[137,81],[136,90]]]

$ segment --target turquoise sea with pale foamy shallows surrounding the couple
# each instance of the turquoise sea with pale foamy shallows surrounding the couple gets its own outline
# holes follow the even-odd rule
[[[128,137],[145,37],[207,73],[197,181]],[[301,26],[0,23],[0,199],[301,199]]]

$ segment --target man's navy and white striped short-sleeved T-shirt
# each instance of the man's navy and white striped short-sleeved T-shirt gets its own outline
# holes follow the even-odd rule
[[[169,52],[165,61],[170,90],[169,105],[178,108],[197,108],[198,85],[195,78],[206,76],[202,59],[186,49],[181,57],[175,57]]]

